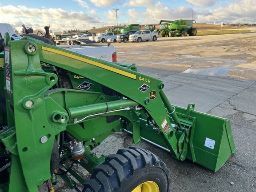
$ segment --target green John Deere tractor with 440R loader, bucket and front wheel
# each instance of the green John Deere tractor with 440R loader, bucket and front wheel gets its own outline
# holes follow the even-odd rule
[[[44,37],[42,37],[44,38]],[[92,149],[130,132],[216,172],[236,151],[228,119],[170,104],[161,80],[24,36],[0,50],[0,191],[36,192],[61,177],[83,192],[168,192],[168,168],[142,148]],[[162,149],[160,149],[162,150]],[[92,174],[82,178],[80,164]]]

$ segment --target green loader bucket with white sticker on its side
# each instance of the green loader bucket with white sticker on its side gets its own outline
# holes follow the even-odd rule
[[[178,106],[175,108],[180,123],[191,127],[186,159],[211,171],[218,171],[236,151],[230,121],[194,111],[194,104],[189,104],[187,109]],[[159,134],[145,129],[142,128],[141,131],[142,139],[168,150],[168,145],[160,139]]]

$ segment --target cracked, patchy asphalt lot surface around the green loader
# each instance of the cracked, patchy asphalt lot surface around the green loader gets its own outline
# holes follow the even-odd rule
[[[170,191],[256,192],[256,31],[112,45],[117,62],[135,63],[138,72],[162,80],[172,104],[187,108],[195,103],[196,111],[231,122],[238,149],[216,173],[190,160],[176,160],[145,141],[136,145],[155,153],[168,166]],[[121,132],[105,140],[95,152],[115,153],[133,145],[132,137]],[[89,176],[79,168],[77,171],[85,178]],[[74,190],[60,181],[56,192],[60,191]]]

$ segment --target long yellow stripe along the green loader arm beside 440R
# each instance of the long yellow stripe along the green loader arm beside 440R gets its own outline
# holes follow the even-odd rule
[[[53,48],[47,48],[47,47],[44,47],[44,46],[42,46],[42,50],[45,50],[45,51],[48,51],[48,52],[52,52],[52,53],[56,53],[56,54],[62,55],[62,56],[67,56],[67,57],[70,57],[70,58],[73,58],[73,59],[76,59],[76,60],[80,60],[82,62],[85,62],[85,63],[88,63],[88,64],[92,64],[92,65],[94,65],[96,67],[104,68],[104,69],[107,69],[109,71],[118,73],[118,74],[123,75],[123,76],[130,77],[130,78],[136,80],[136,75],[135,74],[132,74],[132,73],[129,73],[129,72],[125,72],[125,71],[122,71],[120,69],[113,68],[111,66],[108,66],[108,65],[105,65],[105,64],[101,64],[101,63],[98,63],[98,62],[93,61],[93,60],[89,60],[89,59],[86,59],[86,58],[83,58],[83,57],[80,57],[80,56],[76,56],[76,55],[73,55],[71,53],[67,53],[67,52],[63,52],[63,51],[60,51],[60,50],[56,50],[56,49],[53,49]]]

